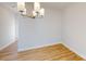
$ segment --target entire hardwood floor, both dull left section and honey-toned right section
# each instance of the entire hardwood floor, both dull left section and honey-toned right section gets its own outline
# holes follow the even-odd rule
[[[83,57],[70,51],[61,43],[20,53],[17,53],[16,46],[16,43],[12,43],[0,51],[0,61],[84,61]]]

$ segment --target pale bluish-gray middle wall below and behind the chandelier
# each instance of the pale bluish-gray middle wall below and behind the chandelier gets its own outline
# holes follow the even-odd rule
[[[61,41],[61,11],[46,9],[42,18],[16,16],[19,21],[19,50],[58,43]]]

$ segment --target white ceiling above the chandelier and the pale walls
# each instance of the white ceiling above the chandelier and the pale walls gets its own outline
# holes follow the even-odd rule
[[[33,2],[26,2],[26,7],[29,8],[29,4]],[[66,7],[73,4],[74,2],[40,2],[42,8],[51,9],[65,9]],[[16,2],[0,2],[0,5],[9,7],[12,11],[17,12]],[[33,5],[33,4],[32,4]]]

